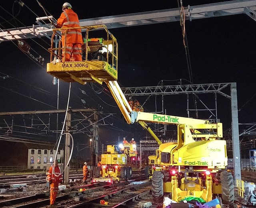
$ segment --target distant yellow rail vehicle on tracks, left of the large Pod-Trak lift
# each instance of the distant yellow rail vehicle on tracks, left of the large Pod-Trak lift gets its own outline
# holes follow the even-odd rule
[[[132,167],[127,166],[127,157],[116,145],[107,145],[107,153],[101,155],[101,166],[96,168],[96,178],[92,182],[112,184],[120,179],[130,179]]]

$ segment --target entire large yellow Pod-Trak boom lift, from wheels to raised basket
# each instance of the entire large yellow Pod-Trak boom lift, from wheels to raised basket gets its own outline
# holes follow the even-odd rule
[[[69,29],[74,28],[53,29],[52,47],[49,49],[51,62],[47,64],[47,73],[66,82],[81,84],[105,82],[126,122],[128,124],[138,122],[151,133],[160,145],[152,162],[153,170],[160,170],[153,171],[152,175],[154,201],[162,202],[163,196],[169,194],[176,201],[186,196],[196,196],[208,202],[212,200],[212,196],[218,195],[222,196],[224,202],[232,204],[234,202],[232,175],[225,171],[220,172],[227,166],[226,141],[221,140],[222,124],[133,111],[116,81],[118,77],[116,38],[106,26],[80,28],[86,33],[84,60],[62,62],[61,54],[62,50],[65,54],[66,44],[54,47],[55,34],[61,31],[62,35],[65,35]],[[95,38],[89,35],[95,30],[97,33],[105,31],[105,37]],[[177,143],[162,144],[146,123],[177,125]]]

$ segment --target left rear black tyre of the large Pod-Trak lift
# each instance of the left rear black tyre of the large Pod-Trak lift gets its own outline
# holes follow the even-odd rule
[[[152,177],[153,204],[163,203],[164,199],[164,174],[161,171],[154,171]]]

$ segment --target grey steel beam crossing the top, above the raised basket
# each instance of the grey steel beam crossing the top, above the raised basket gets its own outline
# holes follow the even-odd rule
[[[256,20],[256,0],[236,0],[215,4],[188,6],[184,8],[184,11],[186,20],[190,21],[235,14],[247,14],[250,18]],[[50,16],[50,19],[54,21],[52,16]],[[48,18],[40,17],[36,18],[36,23],[38,25],[6,30],[0,29],[0,42],[44,36],[50,38],[52,36],[52,25],[42,22],[45,20],[48,20]],[[85,19],[80,20],[80,25],[106,25],[108,29],[111,29],[176,21],[180,21],[179,8]]]

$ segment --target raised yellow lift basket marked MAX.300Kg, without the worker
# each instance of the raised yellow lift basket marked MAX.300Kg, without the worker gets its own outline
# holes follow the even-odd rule
[[[69,29],[81,29],[82,33],[85,32],[84,45],[81,50],[82,61],[62,61],[66,60],[66,34]],[[79,82],[80,84],[86,84],[86,82],[102,84],[104,81],[117,80],[118,44],[106,26],[65,27],[53,30],[52,45],[49,49],[51,62],[47,63],[48,74],[65,82]],[[54,39],[56,35],[60,36],[60,40],[65,40],[59,41],[59,47]],[[100,38],[95,38],[93,35],[99,35]]]

